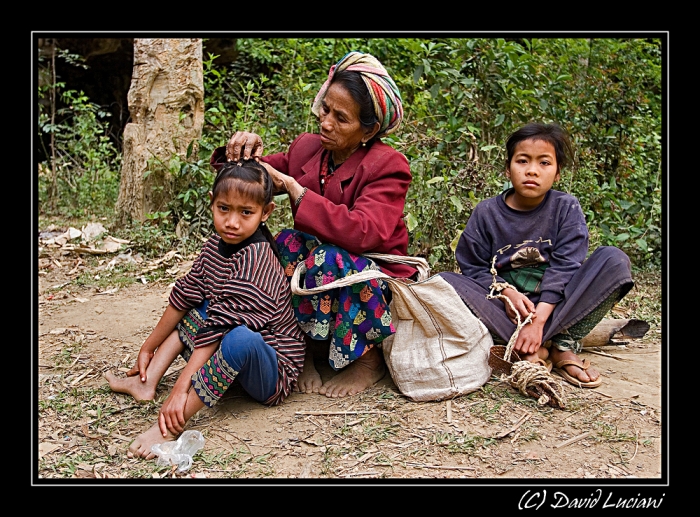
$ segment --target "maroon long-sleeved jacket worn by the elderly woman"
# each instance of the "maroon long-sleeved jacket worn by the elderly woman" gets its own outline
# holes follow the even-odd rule
[[[403,210],[411,171],[406,157],[379,140],[360,147],[326,180],[322,196],[322,151],[319,135],[302,133],[288,152],[262,158],[309,189],[299,206],[292,207],[294,228],[355,254],[407,255]],[[211,165],[218,170],[225,156],[224,147],[216,149]],[[380,266],[397,278],[416,272],[405,264],[380,262]]]

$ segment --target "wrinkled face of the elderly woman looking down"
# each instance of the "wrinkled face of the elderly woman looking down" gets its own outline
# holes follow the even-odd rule
[[[363,139],[365,130],[360,124],[360,106],[345,87],[331,84],[321,102],[321,145],[333,152],[337,162],[350,156]]]

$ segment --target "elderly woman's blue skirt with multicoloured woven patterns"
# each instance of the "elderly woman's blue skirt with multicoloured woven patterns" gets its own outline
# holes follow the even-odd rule
[[[275,241],[288,280],[303,262],[301,287],[306,289],[365,269],[380,269],[367,257],[321,244],[313,235],[298,230],[282,230]],[[334,370],[344,368],[395,332],[390,301],[388,284],[378,279],[315,295],[292,295],[294,314],[304,333],[311,339],[330,340],[328,359]]]

